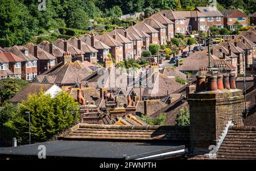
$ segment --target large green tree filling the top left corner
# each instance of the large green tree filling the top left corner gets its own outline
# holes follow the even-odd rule
[[[27,6],[17,0],[0,0],[0,46],[11,47],[27,43],[36,35],[37,21]]]

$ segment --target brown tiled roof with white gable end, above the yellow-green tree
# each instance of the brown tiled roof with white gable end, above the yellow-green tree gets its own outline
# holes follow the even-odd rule
[[[9,103],[21,103],[23,101],[27,101],[28,95],[39,94],[40,91],[44,91],[44,94],[49,94],[51,97],[55,97],[55,95],[63,90],[55,84],[46,84],[46,83],[38,83],[38,82],[30,82],[28,85],[23,87],[19,93],[15,94],[8,102]]]

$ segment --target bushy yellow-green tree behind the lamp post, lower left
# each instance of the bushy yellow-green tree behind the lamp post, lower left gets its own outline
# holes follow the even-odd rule
[[[10,127],[20,141],[27,143],[29,123],[26,111],[30,111],[31,141],[46,141],[76,122],[78,105],[67,93],[61,92],[51,98],[41,91],[38,95],[29,95],[27,102],[22,102]]]

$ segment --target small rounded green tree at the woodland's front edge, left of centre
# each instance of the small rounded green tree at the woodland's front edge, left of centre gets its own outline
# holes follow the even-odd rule
[[[92,25],[92,23],[90,22],[89,17],[84,10],[74,9],[71,11],[67,25],[71,28],[87,30]]]

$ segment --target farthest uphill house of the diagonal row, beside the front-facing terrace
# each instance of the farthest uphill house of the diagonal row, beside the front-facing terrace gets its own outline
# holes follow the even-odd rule
[[[174,37],[174,22],[172,22],[170,19],[166,18],[160,13],[155,13],[151,15],[150,18],[154,18],[156,21],[166,26],[166,37],[168,41],[170,41],[171,38]]]

